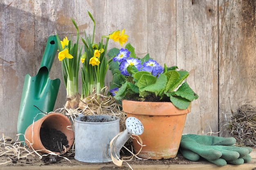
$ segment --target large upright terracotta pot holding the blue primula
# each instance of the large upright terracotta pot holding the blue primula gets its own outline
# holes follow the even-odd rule
[[[177,109],[171,102],[122,101],[127,117],[139,119],[144,132],[139,135],[144,145],[138,157],[168,159],[177,155],[188,109]],[[141,146],[133,139],[135,152]]]

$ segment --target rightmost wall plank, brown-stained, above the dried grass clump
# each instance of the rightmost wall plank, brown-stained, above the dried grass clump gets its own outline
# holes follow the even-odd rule
[[[256,103],[255,1],[219,4],[219,122],[226,124],[238,105]],[[221,135],[228,136],[224,131]]]

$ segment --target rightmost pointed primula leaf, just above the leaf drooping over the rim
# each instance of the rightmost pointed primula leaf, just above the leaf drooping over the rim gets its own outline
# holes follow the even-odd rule
[[[180,96],[182,98],[186,98],[189,101],[193,101],[198,98],[198,95],[193,92],[193,90],[189,87],[187,82],[184,82],[176,92],[174,92],[176,96]]]

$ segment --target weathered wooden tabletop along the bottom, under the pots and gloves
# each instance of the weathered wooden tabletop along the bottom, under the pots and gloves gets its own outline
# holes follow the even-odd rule
[[[216,166],[208,161],[196,161],[188,164],[161,164],[161,165],[138,165],[129,162],[133,170],[256,170],[256,149],[250,153],[252,161],[236,166],[228,164],[226,166]],[[23,166],[10,166],[0,165],[0,170],[129,170],[126,163],[122,167],[116,166],[114,163],[83,163],[76,160],[76,163],[63,165],[60,163],[49,165],[23,165]]]

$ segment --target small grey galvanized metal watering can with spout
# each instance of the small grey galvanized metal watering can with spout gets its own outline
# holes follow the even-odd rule
[[[115,116],[79,116],[75,121],[75,159],[87,163],[110,162],[111,153],[120,157],[120,150],[132,134],[141,135],[142,123],[134,117],[126,119],[126,129],[119,134],[120,119]],[[113,142],[110,150],[110,141]]]

